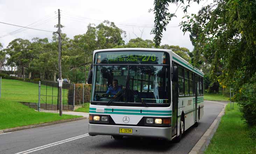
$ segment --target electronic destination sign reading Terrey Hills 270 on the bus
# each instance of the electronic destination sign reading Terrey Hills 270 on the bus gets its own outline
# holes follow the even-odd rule
[[[118,51],[95,54],[95,64],[165,64],[164,52]]]

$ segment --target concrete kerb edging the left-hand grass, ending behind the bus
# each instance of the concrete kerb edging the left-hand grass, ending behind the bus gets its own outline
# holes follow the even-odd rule
[[[20,131],[20,130],[25,130],[25,129],[31,129],[31,128],[36,128],[36,127],[42,127],[42,126],[49,126],[49,125],[54,125],[54,124],[61,124],[61,123],[66,123],[66,122],[73,122],[73,121],[83,120],[83,119],[87,119],[87,118],[86,117],[81,117],[81,118],[65,119],[65,120],[58,120],[58,121],[49,122],[49,123],[42,123],[42,124],[28,125],[28,126],[22,126],[22,127],[15,127],[15,128],[0,130],[0,134],[1,133],[13,132],[13,131]]]

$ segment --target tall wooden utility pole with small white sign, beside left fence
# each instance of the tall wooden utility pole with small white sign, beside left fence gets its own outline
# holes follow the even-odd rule
[[[61,75],[61,13],[58,9],[58,34],[59,34],[59,115],[62,116],[62,75]]]

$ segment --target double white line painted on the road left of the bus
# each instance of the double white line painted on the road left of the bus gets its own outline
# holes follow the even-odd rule
[[[62,140],[62,141],[54,142],[54,143],[51,143],[51,144],[47,144],[47,145],[44,145],[44,146],[36,147],[36,148],[33,148],[33,149],[29,149],[29,150],[26,150],[26,151],[22,151],[22,152],[19,152],[19,153],[15,153],[15,154],[27,154],[27,153],[38,151],[38,150],[48,148],[48,147],[51,147],[51,146],[63,144],[65,142],[69,142],[69,141],[73,141],[73,140],[80,139],[80,138],[83,138],[83,137],[87,137],[87,136],[89,136],[88,133],[83,134],[83,135],[79,135],[79,136],[76,136],[76,137],[72,137],[72,138],[69,138],[69,139],[65,139],[65,140]]]

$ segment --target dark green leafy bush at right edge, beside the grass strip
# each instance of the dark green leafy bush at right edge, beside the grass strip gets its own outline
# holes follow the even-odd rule
[[[249,83],[244,84],[234,96],[240,105],[243,118],[250,126],[256,126],[256,74]]]

